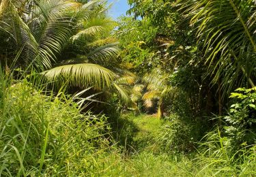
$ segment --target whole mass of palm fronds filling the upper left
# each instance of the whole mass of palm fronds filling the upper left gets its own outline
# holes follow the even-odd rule
[[[46,80],[57,80],[55,85],[115,88],[127,96],[113,82],[122,75],[113,71],[119,49],[109,37],[115,22],[107,18],[104,3],[3,0],[0,21],[1,32],[9,35],[5,40],[17,48],[18,66],[33,66]]]

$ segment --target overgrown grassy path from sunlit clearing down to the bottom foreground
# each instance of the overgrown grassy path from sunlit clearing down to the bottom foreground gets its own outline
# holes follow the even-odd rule
[[[165,124],[165,120],[147,114],[119,118],[117,138],[126,151],[125,176],[190,176],[190,160],[168,155],[156,144]]]

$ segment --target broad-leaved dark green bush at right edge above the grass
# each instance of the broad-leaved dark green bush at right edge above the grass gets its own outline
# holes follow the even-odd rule
[[[238,150],[241,144],[256,142],[256,87],[251,89],[238,88],[231,93],[233,104],[229,115],[224,117],[224,127],[231,149]]]

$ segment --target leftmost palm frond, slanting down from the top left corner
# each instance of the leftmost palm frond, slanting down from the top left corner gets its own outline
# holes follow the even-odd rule
[[[4,0],[0,3],[0,31],[8,33],[7,40],[17,49],[22,50],[17,63],[28,66],[30,63],[40,64],[36,57],[38,43],[31,34],[31,30],[19,16],[18,10],[12,1]]]

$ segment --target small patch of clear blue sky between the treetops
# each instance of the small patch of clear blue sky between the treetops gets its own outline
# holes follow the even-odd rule
[[[109,15],[114,19],[117,19],[122,14],[126,15],[126,11],[129,9],[127,0],[108,0],[109,3],[113,3]]]

